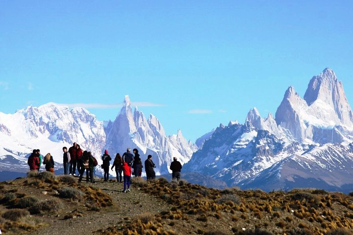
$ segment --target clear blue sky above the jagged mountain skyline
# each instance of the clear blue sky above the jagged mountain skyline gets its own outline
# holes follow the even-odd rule
[[[0,0],[0,112],[81,103],[113,120],[128,94],[167,134],[195,141],[252,107],[275,115],[289,86],[303,97],[327,67],[352,104],[352,10],[325,0]]]

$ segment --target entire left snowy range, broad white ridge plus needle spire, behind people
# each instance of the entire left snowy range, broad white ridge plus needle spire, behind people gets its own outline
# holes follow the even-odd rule
[[[153,115],[146,120],[137,107],[132,114],[128,96],[114,122],[103,123],[83,108],[70,110],[54,103],[29,106],[15,114],[0,113],[0,142],[1,172],[27,172],[27,158],[33,149],[40,149],[42,155],[50,153],[55,170],[61,172],[62,147],[69,148],[73,142],[80,144],[83,150],[91,151],[99,166],[104,149],[108,149],[114,159],[117,152],[123,154],[127,147],[136,147],[143,161],[148,154],[153,156],[157,173],[167,173],[173,157],[183,164],[197,150],[180,130],[177,135],[167,137]],[[99,171],[100,168],[98,174]]]

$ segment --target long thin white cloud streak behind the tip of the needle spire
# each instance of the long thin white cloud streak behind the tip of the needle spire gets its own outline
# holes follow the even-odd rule
[[[123,107],[124,103],[116,103],[116,104],[73,103],[73,104],[57,104],[57,105],[68,106],[69,108],[82,107],[82,108],[85,108],[85,109],[115,109],[115,108]],[[131,106],[158,107],[158,106],[164,106],[164,105],[163,104],[149,103],[149,102],[131,102]]]

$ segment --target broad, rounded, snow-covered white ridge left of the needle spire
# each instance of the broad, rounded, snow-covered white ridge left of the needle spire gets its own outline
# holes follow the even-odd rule
[[[50,153],[56,169],[62,167],[62,147],[69,148],[73,142],[100,156],[105,133],[102,123],[87,110],[48,103],[15,114],[0,113],[0,142],[0,170],[26,172],[33,149]]]

